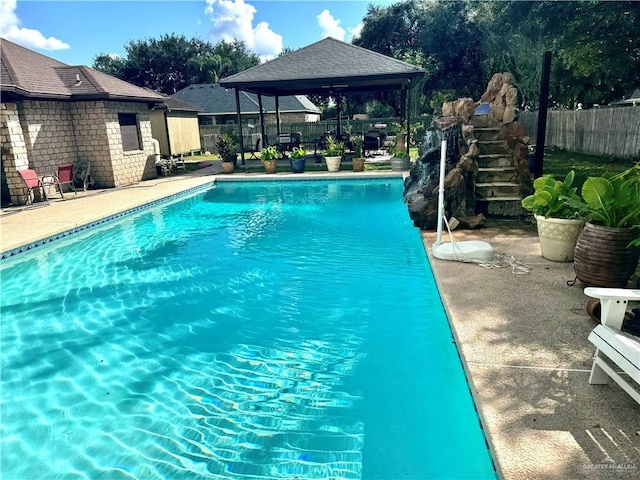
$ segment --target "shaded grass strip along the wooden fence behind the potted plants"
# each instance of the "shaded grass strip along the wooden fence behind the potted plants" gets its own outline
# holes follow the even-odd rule
[[[601,157],[565,150],[545,150],[542,173],[558,180],[571,170],[576,172],[574,185],[581,187],[587,177],[599,177],[605,172],[619,173],[633,166],[630,159]]]

